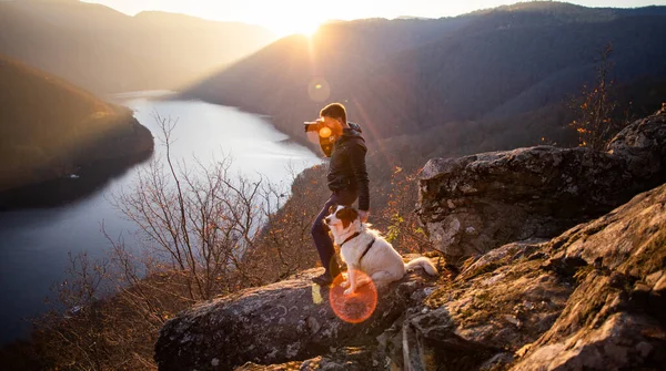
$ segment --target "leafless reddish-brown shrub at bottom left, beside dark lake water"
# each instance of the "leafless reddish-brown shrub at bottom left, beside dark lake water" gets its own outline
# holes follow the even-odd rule
[[[37,330],[32,333],[32,357],[38,354],[48,364],[40,369],[157,369],[152,344],[167,317],[147,317],[150,311],[138,305],[145,301],[137,298],[149,296],[139,292],[139,287],[111,291],[122,277],[115,270],[117,264],[108,259],[91,260],[87,254],[70,256],[68,278],[56,288],[57,306],[36,321]],[[162,303],[153,302],[151,315],[163,311]]]

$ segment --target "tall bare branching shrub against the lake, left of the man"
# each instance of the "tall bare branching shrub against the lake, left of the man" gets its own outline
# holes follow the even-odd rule
[[[278,202],[271,198],[272,187],[263,177],[232,175],[230,157],[208,167],[199,161],[194,168],[176,166],[171,157],[175,121],[155,118],[165,164],[152,162],[135,187],[117,198],[147,238],[145,274],[175,279],[174,285],[182,285],[175,292],[193,301],[246,286],[242,257],[254,248],[266,210]],[[138,279],[132,277],[132,282]]]

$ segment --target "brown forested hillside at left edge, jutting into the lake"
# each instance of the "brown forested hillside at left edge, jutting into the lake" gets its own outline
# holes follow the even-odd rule
[[[2,55],[0,81],[0,192],[152,151],[125,107]]]

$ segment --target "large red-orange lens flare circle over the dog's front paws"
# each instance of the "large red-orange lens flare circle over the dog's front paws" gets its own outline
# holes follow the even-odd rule
[[[346,289],[340,286],[344,278],[339,275],[329,290],[329,302],[331,302],[335,316],[341,320],[361,323],[369,319],[377,307],[377,289],[367,275],[360,270],[355,270],[354,274],[357,281],[366,280],[367,284],[357,287],[352,295],[344,295]]]

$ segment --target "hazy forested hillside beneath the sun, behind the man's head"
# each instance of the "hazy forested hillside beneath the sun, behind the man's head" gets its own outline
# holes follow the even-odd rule
[[[458,126],[470,122],[517,124],[535,110],[559,109],[595,78],[607,44],[617,84],[664,79],[665,39],[659,7],[531,2],[451,19],[340,22],[312,39],[282,39],[183,95],[271,115],[296,138],[301,123],[331,101],[346,103],[371,140],[444,124],[464,132]],[[559,126],[531,135],[558,133]]]

